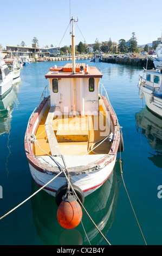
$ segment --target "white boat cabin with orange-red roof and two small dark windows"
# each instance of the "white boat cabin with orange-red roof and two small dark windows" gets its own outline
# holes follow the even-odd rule
[[[66,114],[98,114],[101,77],[98,69],[86,64],[76,64],[75,74],[72,72],[72,64],[51,68],[46,75],[49,78],[50,105]]]

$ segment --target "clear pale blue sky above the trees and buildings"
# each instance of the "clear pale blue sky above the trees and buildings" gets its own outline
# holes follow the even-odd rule
[[[162,21],[156,8],[161,12],[162,4],[156,5],[151,0],[1,1],[0,44],[5,47],[24,41],[31,46],[36,36],[41,47],[70,45],[70,16],[75,19],[79,16],[75,44],[80,41],[93,44],[96,38],[100,42],[109,38],[127,41],[132,32],[139,45],[147,44],[161,37]]]

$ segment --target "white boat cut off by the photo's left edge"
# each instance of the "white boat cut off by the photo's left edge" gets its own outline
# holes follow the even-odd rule
[[[9,70],[0,52],[0,98],[12,88],[13,76],[14,72]]]

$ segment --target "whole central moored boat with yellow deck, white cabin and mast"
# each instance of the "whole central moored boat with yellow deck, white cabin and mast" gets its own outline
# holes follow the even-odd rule
[[[109,178],[117,152],[124,150],[118,118],[100,84],[101,72],[75,64],[74,17],[71,22],[73,63],[54,66],[45,75],[50,95],[47,86],[24,138],[31,176],[38,186],[46,185],[44,191],[58,205],[73,188],[83,203]]]

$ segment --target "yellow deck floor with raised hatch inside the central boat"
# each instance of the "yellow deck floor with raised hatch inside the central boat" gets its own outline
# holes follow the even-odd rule
[[[49,108],[44,113],[40,125],[38,125],[36,131],[36,139],[39,147],[50,154],[50,148],[48,143],[48,138],[46,135],[46,129],[44,124],[46,123],[46,118],[49,112]],[[98,116],[85,116],[85,117],[67,117],[60,116],[53,119],[53,129],[58,136],[58,143],[63,155],[85,155],[90,147],[95,143],[100,141],[100,139],[105,138],[109,134],[109,129],[107,129],[105,135],[101,136],[101,132],[104,132],[104,126],[106,124],[105,112],[100,106],[100,115]],[[34,154],[35,156],[46,155],[35,143],[34,144]],[[108,141],[105,141],[95,149],[97,154],[107,154],[111,145]],[[90,153],[90,154],[93,154]]]

